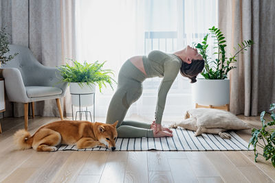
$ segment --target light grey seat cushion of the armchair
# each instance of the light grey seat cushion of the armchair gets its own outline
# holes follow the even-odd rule
[[[61,88],[51,86],[25,86],[29,98],[46,97],[51,95],[60,95]]]

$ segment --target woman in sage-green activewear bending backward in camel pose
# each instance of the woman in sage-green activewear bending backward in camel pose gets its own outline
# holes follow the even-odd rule
[[[173,136],[172,131],[162,127],[162,114],[166,95],[177,74],[188,77],[191,83],[204,67],[204,60],[197,49],[187,46],[173,54],[151,51],[148,56],[134,56],[127,60],[118,74],[118,88],[111,99],[106,123],[118,121],[119,137],[161,137]],[[142,82],[149,77],[163,77],[157,94],[155,121],[152,124],[124,121],[131,104],[142,95]]]

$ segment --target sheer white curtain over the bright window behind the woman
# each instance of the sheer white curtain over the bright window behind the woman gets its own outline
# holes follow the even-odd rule
[[[76,1],[76,49],[80,62],[107,60],[117,80],[120,66],[131,56],[153,49],[173,53],[201,41],[217,25],[217,0],[82,0]],[[153,120],[162,78],[144,82],[142,97],[126,117],[138,114]],[[114,85],[116,87],[116,85]],[[96,93],[96,117],[105,117],[114,91]],[[164,120],[182,117],[193,108],[189,81],[180,75],[166,99]]]

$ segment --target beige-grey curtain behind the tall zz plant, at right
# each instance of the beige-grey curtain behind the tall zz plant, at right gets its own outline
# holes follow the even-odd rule
[[[221,0],[218,14],[228,56],[242,40],[254,40],[230,72],[230,111],[256,116],[275,102],[275,1]]]

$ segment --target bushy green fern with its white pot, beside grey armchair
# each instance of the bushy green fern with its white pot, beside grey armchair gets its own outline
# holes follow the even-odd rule
[[[89,95],[96,92],[96,85],[101,93],[102,86],[106,87],[109,84],[113,89],[112,83],[115,82],[111,75],[113,71],[110,69],[103,69],[104,63],[98,61],[88,64],[72,60],[73,65],[62,65],[58,68],[63,77],[63,82],[69,84],[69,91],[72,94],[72,105],[92,106],[94,101]],[[81,98],[78,95],[83,95]],[[80,101],[80,102],[79,102]]]

